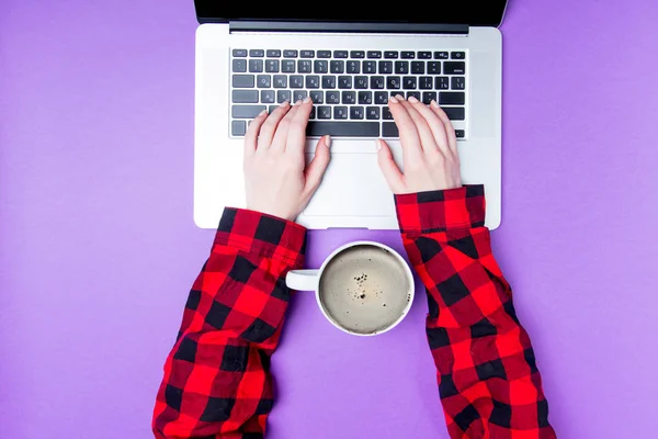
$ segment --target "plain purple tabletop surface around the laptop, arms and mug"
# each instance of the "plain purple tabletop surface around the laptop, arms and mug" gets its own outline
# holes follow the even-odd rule
[[[503,219],[561,438],[656,434],[658,3],[511,0]],[[147,438],[212,230],[191,0],[0,1],[0,437]],[[308,264],[393,232],[310,234]],[[446,438],[426,301],[376,338],[291,308],[270,439]]]

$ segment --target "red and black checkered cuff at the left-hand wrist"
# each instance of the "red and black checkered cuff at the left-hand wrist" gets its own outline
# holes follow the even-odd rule
[[[304,263],[306,228],[264,213],[226,207],[215,244],[276,259],[296,269]]]

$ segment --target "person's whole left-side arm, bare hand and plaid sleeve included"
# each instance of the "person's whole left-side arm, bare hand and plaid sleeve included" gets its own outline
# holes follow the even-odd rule
[[[322,137],[304,161],[310,100],[260,114],[245,136],[249,210],[226,209],[164,363],[152,430],[158,439],[262,438],[272,409],[270,357],[302,267],[306,229],[293,221],[329,162]]]

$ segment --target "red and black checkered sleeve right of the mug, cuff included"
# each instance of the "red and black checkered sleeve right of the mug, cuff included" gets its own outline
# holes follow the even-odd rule
[[[481,185],[396,195],[426,285],[427,336],[452,438],[555,438],[530,338],[485,227]]]

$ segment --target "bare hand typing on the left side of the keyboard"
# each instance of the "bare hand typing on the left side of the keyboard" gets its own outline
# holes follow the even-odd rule
[[[305,167],[309,98],[291,108],[284,102],[268,116],[257,116],[245,136],[247,209],[295,221],[322,180],[331,138],[324,136]],[[305,169],[306,168],[306,169]]]

